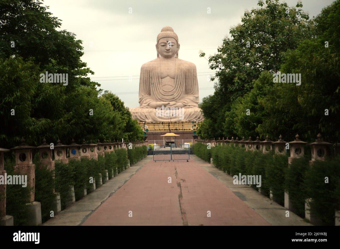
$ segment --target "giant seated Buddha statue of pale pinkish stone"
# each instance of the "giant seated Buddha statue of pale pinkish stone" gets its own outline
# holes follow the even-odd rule
[[[142,65],[139,107],[131,108],[139,122],[202,121],[198,107],[195,64],[178,58],[180,44],[169,26],[157,36],[157,58]]]

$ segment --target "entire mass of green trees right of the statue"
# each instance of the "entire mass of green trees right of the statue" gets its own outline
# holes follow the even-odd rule
[[[218,83],[214,95],[200,103],[205,120],[198,134],[293,139],[299,133],[313,140],[322,132],[339,141],[340,1],[313,20],[300,2],[296,8],[277,0],[258,5],[245,12],[242,24],[231,29],[233,39],[224,39],[209,58],[210,68],[218,69]],[[301,85],[274,83],[278,71],[301,74]]]

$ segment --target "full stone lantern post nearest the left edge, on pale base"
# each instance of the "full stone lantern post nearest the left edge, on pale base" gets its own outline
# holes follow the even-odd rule
[[[12,148],[15,150],[14,171],[20,175],[27,175],[27,187],[31,188],[30,199],[27,205],[29,206],[29,226],[41,225],[41,205],[40,202],[34,201],[34,187],[35,187],[35,165],[32,160],[33,146],[25,144],[25,140],[21,139],[21,145]]]

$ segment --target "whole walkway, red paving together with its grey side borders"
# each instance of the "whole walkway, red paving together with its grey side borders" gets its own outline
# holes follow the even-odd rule
[[[189,162],[154,162],[148,156],[44,225],[80,224],[310,225],[292,212],[286,217],[284,207],[249,186],[234,185],[231,175],[195,155]]]

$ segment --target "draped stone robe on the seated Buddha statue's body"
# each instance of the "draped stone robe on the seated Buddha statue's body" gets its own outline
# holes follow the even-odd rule
[[[149,106],[154,101],[182,103],[184,108],[182,108],[182,112],[177,112],[177,115],[176,111],[173,111],[172,117],[167,117],[169,115],[159,115],[159,109],[158,115],[156,115],[157,110]],[[162,88],[160,61],[157,58],[142,65],[139,78],[140,106],[131,108],[130,111],[133,118],[139,122],[184,122],[194,120],[199,122],[203,120],[203,115],[198,107],[198,102],[196,66],[191,62],[176,58],[174,87],[172,90],[165,90]],[[162,106],[159,106],[159,108],[162,108]],[[167,112],[165,111],[165,113]]]

